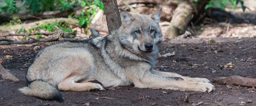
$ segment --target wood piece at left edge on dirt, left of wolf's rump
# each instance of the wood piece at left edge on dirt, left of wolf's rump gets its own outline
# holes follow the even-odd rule
[[[0,64],[0,75],[2,75],[3,79],[19,81],[19,79],[17,77],[15,77],[9,71],[7,71],[1,64]]]

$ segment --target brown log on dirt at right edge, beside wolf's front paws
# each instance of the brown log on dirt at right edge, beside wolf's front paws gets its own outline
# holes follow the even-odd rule
[[[245,78],[245,77],[240,77],[240,76],[220,77],[220,78],[214,79],[212,82],[219,83],[219,84],[256,87],[256,79],[255,78]]]

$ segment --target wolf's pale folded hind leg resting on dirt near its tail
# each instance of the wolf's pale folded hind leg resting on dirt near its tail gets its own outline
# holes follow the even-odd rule
[[[77,83],[74,79],[64,79],[58,85],[58,89],[62,91],[95,91],[95,90],[104,90],[104,88],[97,83]]]

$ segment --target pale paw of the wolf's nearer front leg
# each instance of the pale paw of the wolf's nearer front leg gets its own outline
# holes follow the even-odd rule
[[[210,84],[210,83],[198,83],[198,86],[196,87],[196,89],[198,91],[208,91],[208,93],[210,93],[211,91],[215,90],[214,85]]]

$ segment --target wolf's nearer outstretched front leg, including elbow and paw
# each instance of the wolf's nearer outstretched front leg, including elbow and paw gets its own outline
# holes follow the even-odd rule
[[[136,76],[136,75],[135,75]],[[135,87],[138,88],[163,88],[181,91],[208,91],[214,90],[210,83],[197,83],[184,80],[180,77],[163,77],[146,71],[143,76],[131,78]]]

